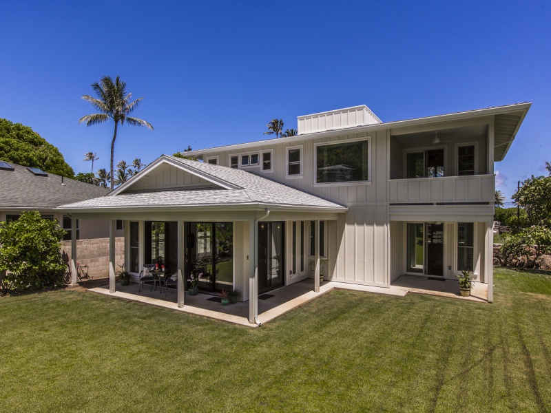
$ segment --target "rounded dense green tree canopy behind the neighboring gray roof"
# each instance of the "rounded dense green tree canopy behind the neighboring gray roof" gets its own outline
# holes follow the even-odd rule
[[[0,118],[0,160],[45,172],[74,177],[73,169],[54,145],[21,123]]]

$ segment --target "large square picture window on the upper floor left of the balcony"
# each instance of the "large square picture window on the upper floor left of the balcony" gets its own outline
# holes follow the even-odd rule
[[[315,145],[315,182],[368,180],[368,146],[369,141],[365,139]]]

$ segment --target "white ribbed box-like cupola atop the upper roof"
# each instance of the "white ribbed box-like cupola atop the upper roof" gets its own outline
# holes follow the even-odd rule
[[[382,123],[366,105],[298,116],[297,120],[299,135]]]

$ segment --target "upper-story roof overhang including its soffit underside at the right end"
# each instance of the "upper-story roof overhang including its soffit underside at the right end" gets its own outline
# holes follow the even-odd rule
[[[455,112],[451,114],[443,114],[436,116],[426,116],[423,118],[414,118],[406,120],[394,120],[386,123],[376,123],[374,125],[355,126],[338,130],[320,131],[309,134],[301,134],[298,136],[289,136],[285,138],[273,138],[267,140],[257,140],[254,142],[238,143],[236,145],[226,145],[222,147],[213,147],[206,149],[197,149],[195,151],[185,152],[185,156],[200,157],[208,153],[216,153],[220,151],[232,151],[238,149],[247,149],[252,147],[264,147],[267,145],[275,145],[280,143],[291,143],[297,140],[318,139],[325,136],[334,136],[335,134],[346,134],[347,132],[358,134],[362,132],[371,132],[381,129],[397,129],[402,127],[413,127],[420,125],[435,124],[435,128],[439,127],[443,122],[453,120],[466,120],[472,118],[485,118],[495,116],[495,131],[494,131],[494,160],[500,161],[505,158],[514,137],[519,131],[519,127],[530,109],[532,103],[514,103],[513,105],[504,105],[496,107],[487,107],[485,109],[475,109],[466,112]]]

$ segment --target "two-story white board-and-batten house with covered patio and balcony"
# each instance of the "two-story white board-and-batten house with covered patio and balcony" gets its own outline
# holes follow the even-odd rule
[[[194,268],[200,288],[259,293],[315,279],[388,287],[468,269],[492,301],[494,162],[530,103],[383,123],[362,105],[299,116],[298,136],[161,156],[109,195],[60,207],[125,220],[126,262]],[[114,224],[112,224],[114,228]],[[76,260],[76,257],[73,257]],[[111,289],[114,291],[114,277]]]

